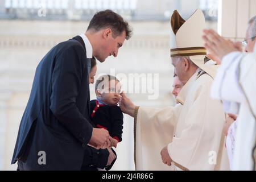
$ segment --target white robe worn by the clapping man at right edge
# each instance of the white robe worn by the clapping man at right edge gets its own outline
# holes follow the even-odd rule
[[[234,146],[227,143],[230,168],[252,170],[256,137],[256,46],[253,53],[224,56],[212,86],[212,97],[223,101],[227,113],[238,114]],[[228,135],[228,140],[232,136]],[[230,150],[234,147],[234,150]],[[233,152],[232,152],[233,151]]]

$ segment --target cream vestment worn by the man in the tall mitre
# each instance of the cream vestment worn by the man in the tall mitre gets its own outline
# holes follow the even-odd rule
[[[212,81],[197,70],[177,96],[180,104],[176,107],[139,107],[135,119],[137,170],[229,169],[222,133],[225,113],[221,102],[210,98]],[[163,164],[160,156],[167,145],[172,167]]]

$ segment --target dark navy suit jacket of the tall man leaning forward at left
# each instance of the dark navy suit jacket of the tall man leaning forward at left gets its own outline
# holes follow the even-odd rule
[[[12,164],[19,160],[22,169],[34,170],[105,167],[108,150],[86,145],[92,136],[87,63],[80,36],[57,44],[40,61]],[[38,163],[40,151],[46,154],[46,164]]]

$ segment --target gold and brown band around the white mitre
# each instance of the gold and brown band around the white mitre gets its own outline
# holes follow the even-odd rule
[[[184,47],[171,49],[171,57],[207,55],[204,47]]]

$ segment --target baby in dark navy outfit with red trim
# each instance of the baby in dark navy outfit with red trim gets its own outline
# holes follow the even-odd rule
[[[111,146],[117,147],[123,133],[123,113],[118,106],[121,84],[116,77],[103,75],[96,81],[95,92],[97,100],[90,101],[91,121],[96,127],[108,130]]]

